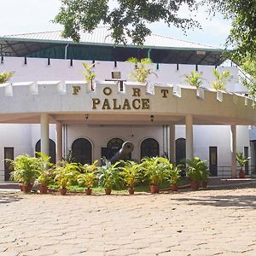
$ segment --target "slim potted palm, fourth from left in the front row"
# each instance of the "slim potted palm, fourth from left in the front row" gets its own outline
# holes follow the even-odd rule
[[[79,174],[78,176],[78,183],[79,185],[84,186],[85,194],[91,195],[91,188],[93,187],[95,180],[96,180],[96,165],[97,160],[92,165],[84,165],[80,167],[80,170],[84,173]]]

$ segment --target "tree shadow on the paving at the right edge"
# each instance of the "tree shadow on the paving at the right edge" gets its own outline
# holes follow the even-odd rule
[[[178,198],[177,201],[187,202],[188,205],[211,207],[233,207],[256,209],[256,196],[254,195],[215,195],[200,196],[200,198]]]

